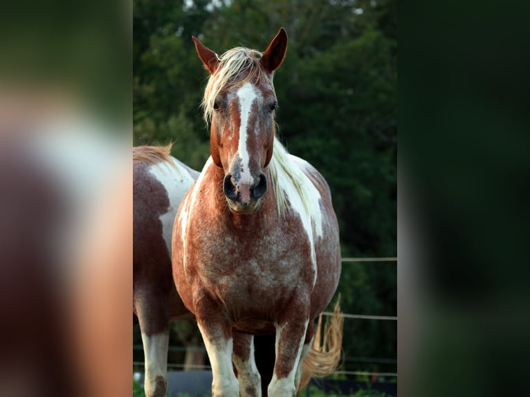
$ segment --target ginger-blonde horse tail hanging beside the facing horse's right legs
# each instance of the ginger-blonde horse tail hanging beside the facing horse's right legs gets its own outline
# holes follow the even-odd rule
[[[298,389],[299,394],[313,376],[327,376],[339,367],[340,353],[342,353],[343,323],[344,316],[340,311],[339,295],[331,319],[328,318],[325,322],[323,335],[322,314],[318,317],[313,346],[304,360],[302,360],[302,377]]]

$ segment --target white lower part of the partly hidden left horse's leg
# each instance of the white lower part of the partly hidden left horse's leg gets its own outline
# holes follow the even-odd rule
[[[146,335],[142,333],[145,355],[145,396],[165,396],[167,389],[167,332]]]

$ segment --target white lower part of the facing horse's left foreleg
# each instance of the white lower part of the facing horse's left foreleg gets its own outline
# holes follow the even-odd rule
[[[239,396],[239,384],[232,367],[232,338],[214,344],[200,325],[199,330],[212,366],[212,397]]]

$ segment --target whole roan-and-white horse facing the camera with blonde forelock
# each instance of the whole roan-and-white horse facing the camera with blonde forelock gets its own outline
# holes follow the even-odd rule
[[[264,53],[237,47],[221,57],[192,39],[210,73],[210,157],[176,214],[174,282],[203,336],[212,396],[262,395],[255,335],[275,335],[268,396],[295,396],[341,263],[327,182],[275,135],[273,74],[287,34],[280,28]]]

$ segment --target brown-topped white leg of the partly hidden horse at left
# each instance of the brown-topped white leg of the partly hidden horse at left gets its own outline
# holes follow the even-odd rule
[[[145,356],[145,396],[165,397],[167,391],[167,347],[170,340],[167,302],[136,305]]]

